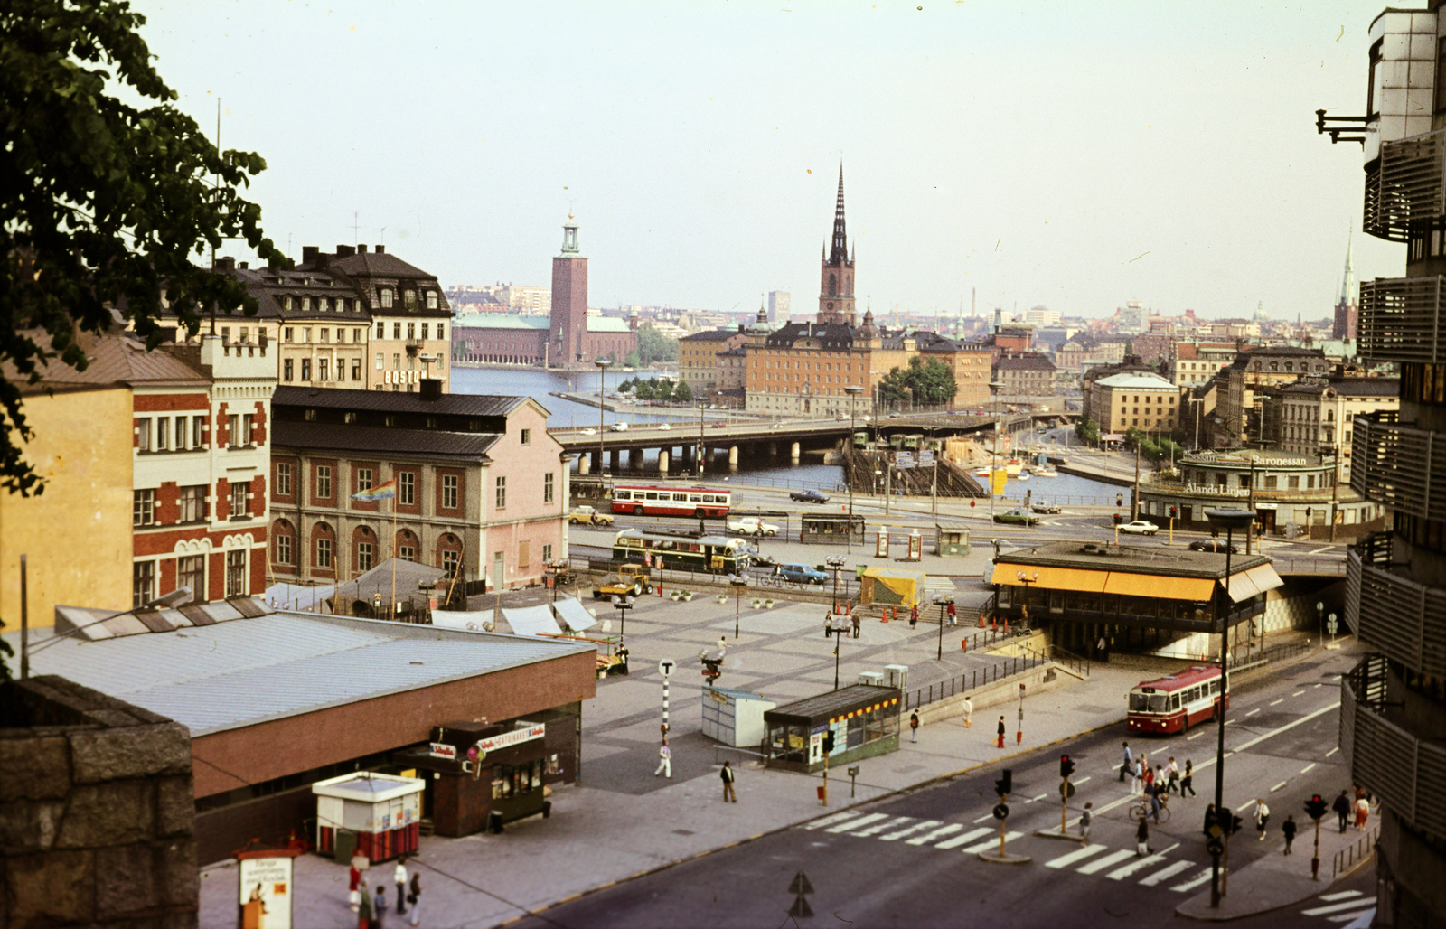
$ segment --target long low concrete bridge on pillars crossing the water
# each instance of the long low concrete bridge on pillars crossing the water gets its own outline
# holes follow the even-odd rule
[[[1006,414],[1004,430],[1009,434],[1028,431],[1037,420],[1073,418],[1058,412]],[[972,436],[988,433],[995,418],[988,415],[928,414],[901,415],[886,420],[855,420],[856,431],[868,430],[870,437],[894,434],[924,434],[930,437]],[[626,431],[587,434],[589,427],[552,428],[548,433],[562,443],[567,451],[578,456],[578,473],[597,472],[602,456],[607,456],[607,470],[641,472],[643,456],[656,450],[656,472],[667,475],[669,469],[697,470],[697,451],[703,449],[704,472],[714,467],[736,466],[740,460],[778,460],[788,457],[797,462],[807,451],[837,447],[849,434],[849,420],[703,420],[697,423],[671,423],[629,425]],[[626,457],[626,466],[623,456]],[[726,456],[726,457],[724,457]]]

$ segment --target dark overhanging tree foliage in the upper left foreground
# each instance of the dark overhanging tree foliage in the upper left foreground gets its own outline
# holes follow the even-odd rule
[[[197,266],[205,247],[262,234],[260,207],[237,195],[266,168],[218,152],[152,68],[145,17],[124,0],[9,0],[0,9],[0,362],[36,383],[59,360],[85,369],[77,337],[103,331],[110,307],[155,347],[162,295],[192,333],[200,313],[256,313],[234,278]],[[113,90],[123,84],[127,97]],[[20,388],[0,381],[0,486],[43,485],[19,443],[33,428]]]

